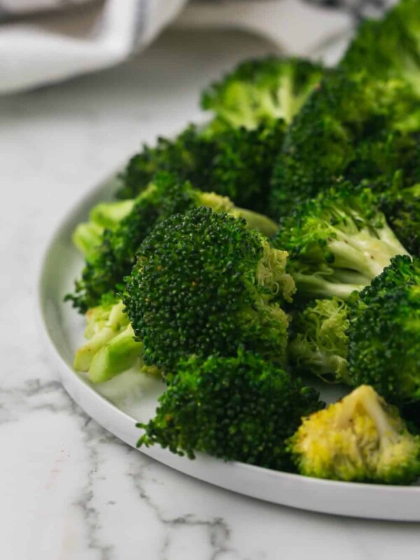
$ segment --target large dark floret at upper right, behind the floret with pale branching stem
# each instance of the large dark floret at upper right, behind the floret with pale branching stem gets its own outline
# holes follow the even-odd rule
[[[417,143],[409,133],[420,129],[419,117],[418,98],[404,83],[328,76],[286,134],[273,168],[272,208],[286,215],[343,178],[391,179],[404,162],[411,171],[408,148]]]

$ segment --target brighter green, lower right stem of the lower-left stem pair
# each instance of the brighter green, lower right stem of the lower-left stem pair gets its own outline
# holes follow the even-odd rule
[[[93,357],[89,378],[93,383],[103,383],[130,370],[139,359],[143,344],[134,339],[132,325],[113,337]]]

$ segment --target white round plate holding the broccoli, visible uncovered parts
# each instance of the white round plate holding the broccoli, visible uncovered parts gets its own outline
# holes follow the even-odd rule
[[[135,447],[140,433],[135,423],[153,415],[163,384],[127,372],[92,386],[74,372],[71,364],[74,351],[83,341],[84,319],[63,302],[83,264],[71,243],[71,232],[87,218],[92,205],[110,199],[115,188],[115,179],[102,183],[69,213],[53,235],[41,267],[38,316],[66,391],[94,420]],[[419,484],[402,487],[332,482],[226,463],[204,455],[190,461],[158,446],[141,451],[187,475],[269,502],[331,514],[420,521]]]

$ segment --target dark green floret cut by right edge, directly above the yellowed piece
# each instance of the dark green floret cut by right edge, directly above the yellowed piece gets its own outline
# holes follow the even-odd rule
[[[360,293],[349,311],[349,374],[389,402],[420,400],[420,286]]]

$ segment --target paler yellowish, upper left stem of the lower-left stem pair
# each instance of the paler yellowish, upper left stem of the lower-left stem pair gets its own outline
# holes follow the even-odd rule
[[[95,354],[99,352],[107,342],[113,339],[113,337],[116,337],[121,330],[127,328],[130,321],[123,309],[123,302],[113,305],[109,313],[109,318],[104,322],[104,325],[101,326],[97,332],[94,332],[89,341],[76,351],[76,356],[73,361],[75,370],[80,372],[89,371]],[[103,321],[102,318],[101,320]],[[93,331],[92,325],[89,325],[89,330]]]

